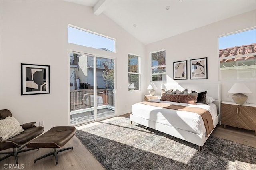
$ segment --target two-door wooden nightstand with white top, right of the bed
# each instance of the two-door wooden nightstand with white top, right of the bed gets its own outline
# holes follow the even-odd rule
[[[221,123],[232,127],[254,130],[256,135],[256,104],[239,105],[234,102],[221,102]]]

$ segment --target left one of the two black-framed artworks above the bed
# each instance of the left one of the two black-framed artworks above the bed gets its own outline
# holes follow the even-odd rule
[[[173,79],[174,80],[188,79],[187,65],[188,65],[187,60],[173,62]]]

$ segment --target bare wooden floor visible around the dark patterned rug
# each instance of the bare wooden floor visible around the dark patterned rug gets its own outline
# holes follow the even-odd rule
[[[110,118],[110,119],[116,119]],[[108,120],[106,120],[108,121]],[[92,126],[96,123],[90,123]],[[79,128],[79,127],[78,127]],[[218,125],[212,135],[232,140],[241,144],[256,148],[256,136],[254,131],[244,130],[223,125]],[[94,156],[84,147],[84,145],[74,136],[64,147],[74,146],[74,150],[66,150],[58,154],[58,165],[55,165],[54,156],[49,156],[38,160],[34,163],[34,159],[48,152],[52,152],[51,148],[40,148],[39,151],[32,150],[18,154],[19,164],[16,166],[14,157],[1,161],[0,169],[24,169],[24,170],[102,170],[104,169]],[[203,148],[204,149],[204,148]],[[8,151],[8,150],[6,150]],[[2,157],[3,155],[1,155]],[[16,166],[16,168],[6,168],[8,166]],[[19,167],[18,167],[19,166]],[[23,168],[22,168],[23,167]]]

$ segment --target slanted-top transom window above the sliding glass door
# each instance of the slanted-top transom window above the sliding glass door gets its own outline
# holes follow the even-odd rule
[[[115,39],[98,35],[75,26],[68,26],[68,43],[116,52]]]

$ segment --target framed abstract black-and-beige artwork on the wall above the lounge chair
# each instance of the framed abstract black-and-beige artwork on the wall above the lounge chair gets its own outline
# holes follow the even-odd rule
[[[50,66],[21,64],[21,95],[50,93]]]

